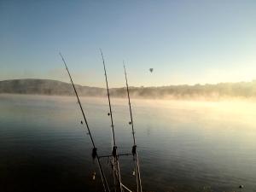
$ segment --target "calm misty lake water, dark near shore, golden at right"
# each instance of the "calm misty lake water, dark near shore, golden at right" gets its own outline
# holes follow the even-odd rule
[[[109,154],[107,99],[82,102],[98,153]],[[256,191],[256,104],[131,102],[144,191]],[[75,97],[0,95],[0,191],[101,191],[81,119]],[[113,99],[119,152],[131,152],[129,120],[127,101]],[[120,158],[123,181],[135,189],[133,165]]]

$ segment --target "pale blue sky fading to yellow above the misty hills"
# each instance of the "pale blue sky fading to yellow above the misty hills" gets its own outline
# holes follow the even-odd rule
[[[256,1],[0,0],[0,80],[77,84],[217,83],[256,79]],[[153,67],[150,73],[148,68]]]

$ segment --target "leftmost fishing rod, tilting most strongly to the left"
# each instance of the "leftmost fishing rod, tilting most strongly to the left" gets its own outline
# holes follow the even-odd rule
[[[61,55],[61,52],[60,52],[59,54]],[[76,90],[76,88],[75,88],[75,85],[73,84],[73,79],[72,79],[71,74],[69,73],[69,70],[68,70],[68,68],[67,68],[67,63],[66,63],[66,61],[64,60],[64,58],[63,58],[62,55],[61,55],[61,59],[62,59],[64,65],[65,65],[65,67],[66,67],[66,69],[67,69],[67,73],[68,73],[69,79],[71,80],[71,83],[72,83],[72,85],[73,85],[73,90],[74,90],[75,95],[76,95],[76,97],[77,97],[77,99],[78,99],[79,107],[80,107],[81,112],[82,112],[83,117],[84,117],[84,122],[85,122],[85,125],[86,125],[86,127],[87,127],[87,131],[88,131],[89,136],[90,136],[90,141],[91,141],[92,146],[93,146],[93,149],[92,149],[92,157],[93,157],[94,159],[96,158],[96,160],[97,160],[97,163],[98,163],[98,166],[99,166],[99,170],[100,170],[100,174],[101,174],[101,177],[102,177],[102,184],[103,184],[104,191],[105,191],[105,192],[110,192],[110,189],[109,189],[109,187],[108,187],[107,179],[106,179],[105,174],[104,174],[103,169],[102,169],[102,164],[101,164],[101,162],[100,162],[100,158],[99,158],[99,156],[98,156],[98,154],[97,154],[97,152],[96,152],[96,151],[97,151],[97,148],[96,148],[96,145],[95,145],[95,143],[94,143],[94,140],[93,140],[93,138],[92,138],[92,136],[91,136],[90,128],[89,128],[87,119],[86,119],[85,114],[84,114],[84,109],[83,109],[83,107],[82,107],[82,105],[81,105],[81,102],[80,102],[80,99],[79,99],[78,92],[77,92],[77,90]]]

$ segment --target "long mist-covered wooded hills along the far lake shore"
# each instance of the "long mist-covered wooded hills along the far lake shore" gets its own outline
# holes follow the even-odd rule
[[[106,96],[104,88],[76,84],[80,96]],[[219,84],[131,87],[131,97],[172,99],[219,99],[224,97],[256,98],[256,81]],[[0,93],[73,96],[73,87],[49,79],[14,79],[0,81]],[[125,97],[123,88],[110,89],[110,95]]]

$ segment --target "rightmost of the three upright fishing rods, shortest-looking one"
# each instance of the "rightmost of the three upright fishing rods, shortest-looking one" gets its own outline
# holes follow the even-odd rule
[[[128,97],[130,117],[131,117],[131,121],[129,122],[129,124],[131,125],[132,138],[133,138],[133,147],[132,147],[131,152],[132,152],[133,156],[135,157],[136,167],[137,167],[137,192],[143,192],[141,172],[140,172],[140,166],[139,166],[138,157],[137,157],[137,150],[136,150],[137,149],[137,144],[136,144],[136,139],[135,139],[135,131],[134,131],[134,127],[133,127],[133,119],[132,119],[132,113],[131,113],[131,99],[130,99],[130,92],[129,92],[127,74],[126,74],[126,69],[125,69],[125,61],[123,61],[123,64],[124,64],[124,70],[125,70],[126,90],[127,90],[127,97]]]

